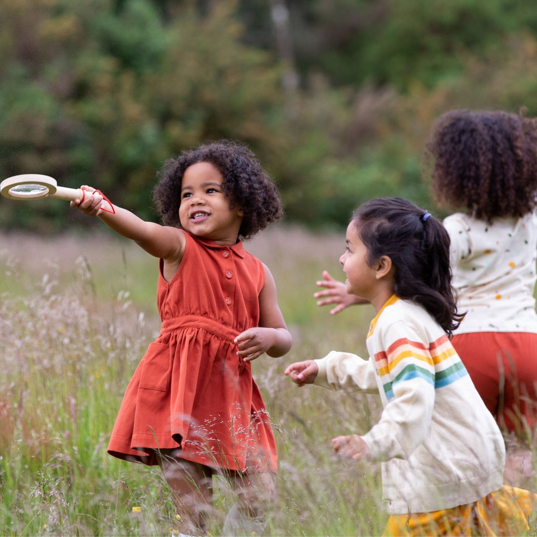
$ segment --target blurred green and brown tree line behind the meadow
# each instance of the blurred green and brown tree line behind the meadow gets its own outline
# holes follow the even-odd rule
[[[220,137],[255,151],[289,220],[344,225],[377,195],[435,209],[438,115],[537,115],[534,0],[0,0],[0,58],[0,178],[90,184],[146,219],[165,159]],[[4,230],[74,213],[0,200]]]

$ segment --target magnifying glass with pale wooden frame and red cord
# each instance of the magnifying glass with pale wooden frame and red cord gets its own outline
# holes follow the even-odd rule
[[[102,195],[101,192],[99,193]],[[0,183],[0,194],[6,198],[16,200],[57,198],[67,201],[82,201],[85,197],[85,191],[82,188],[58,186],[56,179],[39,173],[23,173],[23,175],[15,175],[4,179]],[[105,197],[100,208],[109,213],[114,212],[112,204]]]

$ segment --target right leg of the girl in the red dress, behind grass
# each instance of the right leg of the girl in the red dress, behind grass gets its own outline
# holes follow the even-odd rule
[[[271,472],[234,475],[231,484],[238,501],[226,517],[224,535],[262,535],[266,510],[276,495],[275,475]]]

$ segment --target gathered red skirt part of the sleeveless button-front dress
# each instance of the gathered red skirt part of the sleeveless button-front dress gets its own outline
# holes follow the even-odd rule
[[[277,471],[269,413],[237,356],[234,330],[205,317],[165,321],[130,380],[108,453],[158,464],[158,449],[211,468]]]

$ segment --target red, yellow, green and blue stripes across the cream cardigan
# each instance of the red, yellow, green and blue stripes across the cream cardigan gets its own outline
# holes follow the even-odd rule
[[[398,339],[387,351],[375,354],[375,363],[388,399],[395,397],[400,382],[419,378],[438,389],[468,374],[445,334],[428,349],[423,343]]]

